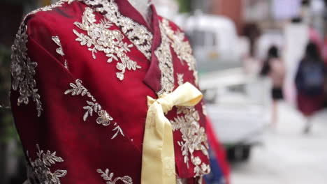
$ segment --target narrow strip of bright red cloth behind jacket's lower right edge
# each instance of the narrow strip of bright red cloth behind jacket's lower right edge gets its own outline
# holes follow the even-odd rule
[[[207,123],[205,125],[205,130],[208,135],[208,142],[211,146],[211,149],[216,155],[217,161],[219,162],[221,171],[223,172],[224,177],[226,178],[227,184],[229,184],[229,183],[231,183],[231,180],[230,180],[231,171],[229,168],[229,164],[226,161],[225,148],[224,148],[224,146],[222,146],[220,144],[219,139],[212,128],[211,120],[208,116],[207,116]]]

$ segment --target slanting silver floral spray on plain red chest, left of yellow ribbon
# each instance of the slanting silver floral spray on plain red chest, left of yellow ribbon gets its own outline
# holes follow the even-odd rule
[[[89,91],[85,88],[85,86],[82,85],[82,81],[80,79],[77,79],[75,83],[76,84],[71,83],[70,86],[72,87],[72,89],[68,89],[67,91],[65,91],[64,94],[65,95],[71,94],[73,96],[87,95],[87,97],[91,98],[92,101],[87,101],[87,105],[83,107],[83,109],[86,110],[83,116],[83,120],[87,121],[87,118],[89,116],[93,116],[94,113],[97,113],[99,117],[96,118],[96,123],[104,126],[110,125],[111,121],[113,121],[113,118],[110,116],[110,114],[108,114],[108,112],[102,109],[101,105],[99,105],[99,103],[96,102],[94,96],[91,93],[89,93]],[[114,124],[114,127],[115,128],[112,129],[112,131],[115,132],[115,135],[113,135],[111,139],[115,139],[118,134],[122,135],[123,137],[125,136],[124,132],[122,131],[122,128],[120,128],[120,126],[117,125],[117,123]]]

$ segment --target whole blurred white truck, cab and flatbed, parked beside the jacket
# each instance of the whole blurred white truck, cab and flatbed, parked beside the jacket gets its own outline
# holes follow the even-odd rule
[[[270,121],[270,82],[242,68],[240,38],[226,17],[196,15],[184,26],[194,48],[208,116],[228,158],[247,160]]]

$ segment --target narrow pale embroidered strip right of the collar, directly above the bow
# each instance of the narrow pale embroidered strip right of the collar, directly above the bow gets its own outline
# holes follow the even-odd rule
[[[174,67],[173,58],[170,52],[169,39],[163,31],[163,26],[160,24],[161,29],[161,45],[154,51],[154,54],[159,60],[159,68],[161,70],[161,91],[158,95],[163,93],[171,93],[174,90]]]

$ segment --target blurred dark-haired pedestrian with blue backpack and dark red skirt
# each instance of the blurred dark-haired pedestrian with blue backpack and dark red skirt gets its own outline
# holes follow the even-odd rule
[[[298,109],[307,118],[304,133],[310,132],[312,115],[324,107],[325,83],[324,60],[321,58],[318,46],[310,42],[296,73]]]

